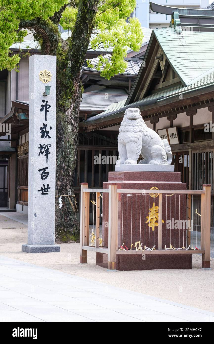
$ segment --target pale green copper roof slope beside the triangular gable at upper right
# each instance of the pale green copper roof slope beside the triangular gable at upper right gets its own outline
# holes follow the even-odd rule
[[[214,67],[213,32],[182,31],[179,35],[174,28],[166,28],[154,34],[184,86]]]

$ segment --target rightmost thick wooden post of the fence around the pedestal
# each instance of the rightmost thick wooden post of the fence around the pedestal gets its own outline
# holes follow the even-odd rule
[[[211,185],[203,184],[203,190],[205,190],[204,204],[202,206],[204,218],[203,221],[203,230],[201,236],[202,245],[204,246],[205,253],[202,254],[202,268],[210,268],[210,221],[211,221]]]

